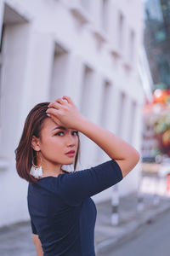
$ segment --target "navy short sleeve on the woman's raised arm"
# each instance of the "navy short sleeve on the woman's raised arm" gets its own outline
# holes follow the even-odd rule
[[[86,170],[59,175],[59,195],[71,206],[110,188],[122,180],[122,171],[116,160],[108,160]]]

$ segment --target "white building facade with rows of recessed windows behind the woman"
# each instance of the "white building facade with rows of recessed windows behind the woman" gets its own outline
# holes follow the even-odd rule
[[[0,0],[0,227],[29,219],[14,149],[37,103],[71,96],[83,115],[140,152],[143,23],[142,0]],[[82,135],[78,168],[105,160]],[[140,163],[118,183],[119,195],[137,190],[139,177]]]

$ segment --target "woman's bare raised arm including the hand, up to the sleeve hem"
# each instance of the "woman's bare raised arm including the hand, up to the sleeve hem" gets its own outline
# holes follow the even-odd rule
[[[56,102],[50,103],[46,112],[59,125],[64,124],[77,129],[98,144],[111,159],[116,160],[121,167],[123,177],[139,162],[139,152],[133,146],[111,131],[82,116],[77,106],[72,102],[71,97],[63,96],[57,99]]]

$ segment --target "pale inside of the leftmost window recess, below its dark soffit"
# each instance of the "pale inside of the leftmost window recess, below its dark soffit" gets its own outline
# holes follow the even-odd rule
[[[2,139],[0,154],[14,158],[14,147],[20,123],[20,102],[26,68],[28,24],[6,26],[3,38]],[[25,103],[26,104],[26,103]],[[10,125],[8,125],[10,120]]]

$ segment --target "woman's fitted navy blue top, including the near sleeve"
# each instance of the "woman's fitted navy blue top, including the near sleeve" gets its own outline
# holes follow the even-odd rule
[[[44,256],[95,256],[96,207],[90,198],[122,180],[115,160],[28,185],[28,211],[33,234]]]

